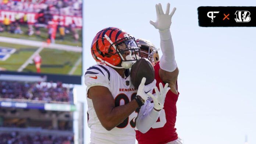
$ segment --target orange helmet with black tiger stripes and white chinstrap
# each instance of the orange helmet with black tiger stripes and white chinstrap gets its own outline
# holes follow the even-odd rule
[[[109,65],[113,68],[131,68],[139,58],[137,55],[139,51],[135,38],[115,27],[100,30],[91,45],[92,56],[97,64]],[[128,55],[123,57],[127,53]]]

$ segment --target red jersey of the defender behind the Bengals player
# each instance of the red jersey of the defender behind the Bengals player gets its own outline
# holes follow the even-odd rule
[[[159,89],[159,83],[163,83],[159,76],[160,65],[157,62],[154,65],[156,86]],[[176,83],[177,84],[177,83]],[[176,102],[178,100],[178,94],[174,94],[171,90],[166,94],[164,102],[164,108],[161,110],[160,116],[156,123],[147,131],[145,134],[136,130],[136,139],[139,144],[165,144],[170,141],[174,141],[178,138],[176,133],[175,122],[176,122]]]

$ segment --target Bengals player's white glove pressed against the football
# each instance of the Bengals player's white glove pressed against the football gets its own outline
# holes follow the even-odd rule
[[[154,87],[156,86],[156,80],[154,80],[152,83],[147,84],[145,86],[146,78],[142,78],[141,84],[139,84],[139,88],[137,91],[137,96],[141,96],[141,98],[144,100],[144,102],[149,98],[149,93],[152,94]]]

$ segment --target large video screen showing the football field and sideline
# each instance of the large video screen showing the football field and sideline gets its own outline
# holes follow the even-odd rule
[[[2,0],[0,73],[81,83],[82,0]]]

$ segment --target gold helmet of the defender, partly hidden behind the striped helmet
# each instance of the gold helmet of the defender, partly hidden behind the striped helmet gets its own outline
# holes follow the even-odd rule
[[[141,50],[148,51],[147,53],[145,51],[140,51],[140,53],[147,54],[147,59],[152,64],[156,64],[159,61],[159,54],[158,54],[157,48],[154,46],[153,43],[145,39],[137,39],[136,43],[138,44],[138,47],[141,48]]]

